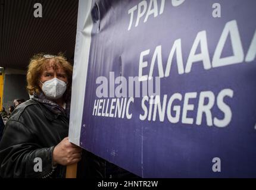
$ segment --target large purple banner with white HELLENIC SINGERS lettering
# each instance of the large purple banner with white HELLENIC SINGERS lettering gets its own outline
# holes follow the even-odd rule
[[[144,178],[255,178],[255,7],[81,0],[71,142]]]

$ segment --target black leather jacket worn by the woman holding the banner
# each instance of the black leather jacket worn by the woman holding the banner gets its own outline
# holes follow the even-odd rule
[[[0,142],[1,177],[64,178],[65,167],[52,166],[52,151],[67,136],[64,114],[54,114],[36,100],[22,103],[8,119]],[[35,172],[35,158],[42,160],[42,172]]]

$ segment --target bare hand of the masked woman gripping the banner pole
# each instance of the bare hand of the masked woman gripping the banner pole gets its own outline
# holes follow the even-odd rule
[[[82,148],[70,143],[66,137],[54,148],[52,159],[54,164],[67,166],[79,162],[81,153]]]

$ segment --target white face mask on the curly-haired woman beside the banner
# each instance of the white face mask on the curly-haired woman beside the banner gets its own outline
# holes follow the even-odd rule
[[[40,83],[42,82],[40,81]],[[42,84],[43,93],[49,99],[59,99],[61,96],[63,96],[65,90],[67,89],[67,84],[58,78],[52,78],[51,80],[45,81],[45,83]]]

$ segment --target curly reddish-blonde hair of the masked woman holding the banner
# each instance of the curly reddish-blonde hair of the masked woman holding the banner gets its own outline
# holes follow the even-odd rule
[[[29,91],[29,94],[33,95],[34,93],[40,93],[40,76],[42,75],[43,70],[48,66],[49,61],[53,63],[52,67],[54,69],[57,69],[59,66],[64,69],[65,73],[67,74],[68,80],[67,91],[64,95],[66,95],[67,93],[69,94],[71,92],[73,66],[61,53],[59,53],[57,56],[52,56],[50,58],[44,55],[45,54],[43,53],[38,53],[34,55],[32,59],[30,59],[27,70],[27,90]],[[52,61],[52,59],[54,61]]]

